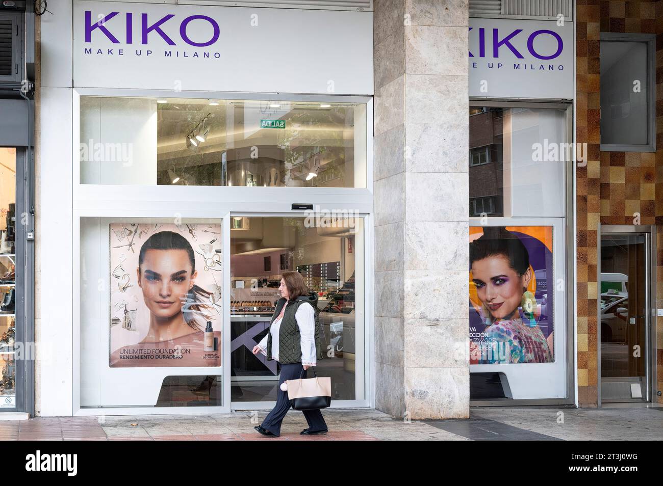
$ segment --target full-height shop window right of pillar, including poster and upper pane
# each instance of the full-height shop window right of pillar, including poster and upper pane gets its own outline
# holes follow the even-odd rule
[[[566,107],[469,111],[470,399],[568,395]]]

